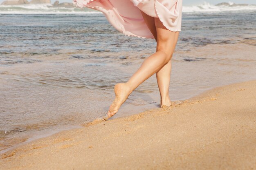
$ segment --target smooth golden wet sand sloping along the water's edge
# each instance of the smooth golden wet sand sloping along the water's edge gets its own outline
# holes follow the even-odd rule
[[[1,170],[254,170],[256,80],[94,121],[0,155]]]

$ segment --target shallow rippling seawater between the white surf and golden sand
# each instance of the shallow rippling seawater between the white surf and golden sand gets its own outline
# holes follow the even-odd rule
[[[184,13],[170,95],[256,79],[256,13]],[[100,13],[0,15],[0,149],[106,115],[113,87],[155,51]],[[155,76],[113,118],[156,108]]]

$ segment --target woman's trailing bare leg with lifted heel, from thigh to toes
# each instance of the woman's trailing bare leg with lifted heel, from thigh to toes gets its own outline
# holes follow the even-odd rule
[[[146,58],[141,67],[132,75],[128,82],[115,85],[116,98],[108,110],[108,117],[117,113],[120,106],[135,88],[171,60],[179,32],[172,32],[166,29],[159,18],[155,18],[154,20],[157,31],[156,53]]]

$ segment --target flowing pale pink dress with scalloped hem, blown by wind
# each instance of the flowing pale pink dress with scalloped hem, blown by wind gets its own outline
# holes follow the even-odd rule
[[[73,0],[73,4],[103,12],[112,26],[128,36],[154,38],[140,10],[159,18],[171,31],[181,28],[182,0]]]

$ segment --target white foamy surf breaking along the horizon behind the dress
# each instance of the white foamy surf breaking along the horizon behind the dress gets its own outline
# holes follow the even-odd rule
[[[204,2],[199,5],[183,6],[184,13],[206,13],[225,11],[256,11],[256,5],[234,4],[233,2],[213,5]],[[86,14],[100,13],[98,11],[84,8],[53,7],[52,4],[22,4],[22,5],[0,5],[0,14]]]

